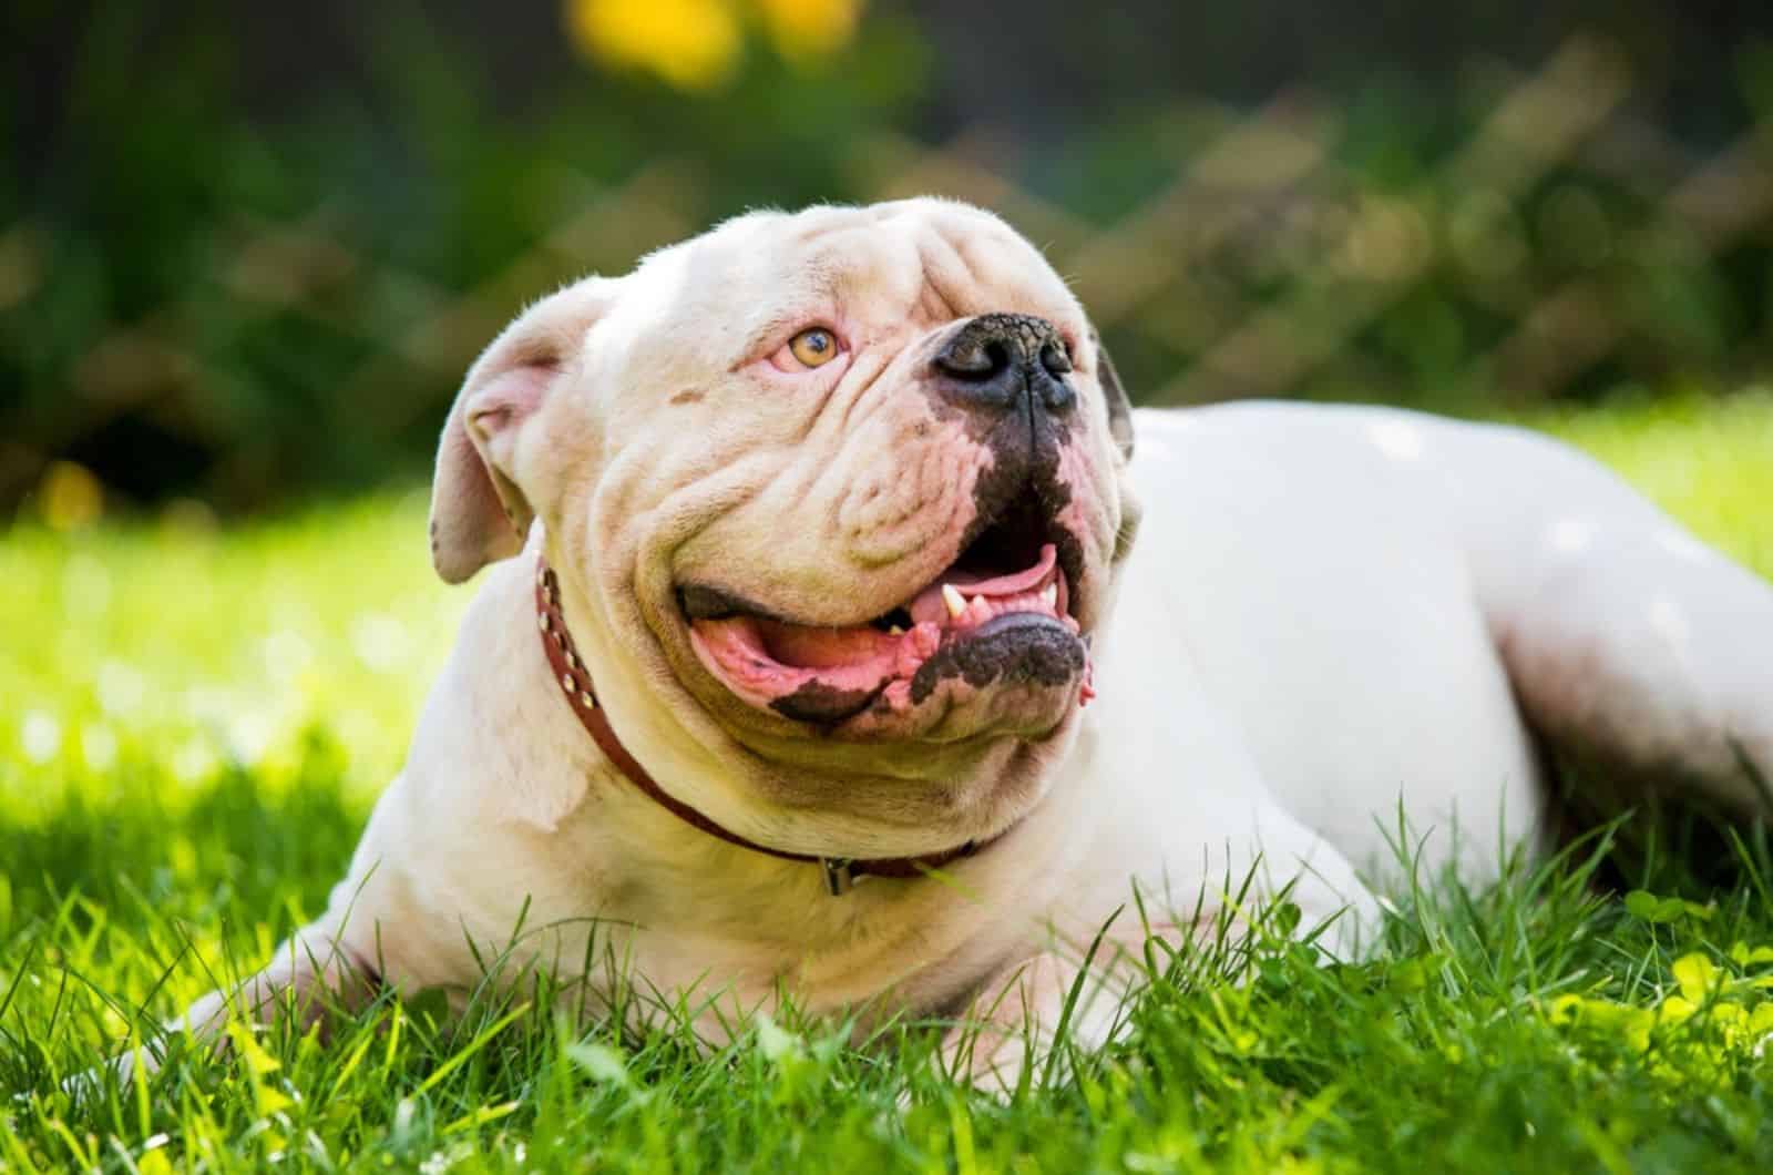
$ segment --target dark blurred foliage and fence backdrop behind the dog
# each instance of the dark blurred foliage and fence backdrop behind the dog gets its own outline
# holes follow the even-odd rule
[[[1764,0],[11,0],[0,518],[413,485],[498,327],[940,192],[1145,403],[1516,414],[1773,359]]]

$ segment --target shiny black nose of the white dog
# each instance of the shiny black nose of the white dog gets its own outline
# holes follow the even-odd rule
[[[966,408],[1069,412],[1071,355],[1058,330],[1032,314],[980,314],[949,335],[929,360],[943,396]]]

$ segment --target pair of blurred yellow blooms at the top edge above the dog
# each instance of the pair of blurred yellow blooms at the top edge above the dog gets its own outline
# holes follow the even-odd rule
[[[863,0],[566,0],[566,27],[587,57],[645,69],[684,91],[732,76],[755,18],[789,60],[832,53],[856,32]]]

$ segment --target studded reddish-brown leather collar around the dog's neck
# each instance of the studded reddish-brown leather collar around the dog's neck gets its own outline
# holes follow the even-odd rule
[[[622,740],[615,737],[615,729],[610,726],[608,715],[603,712],[603,706],[598,705],[598,690],[590,683],[590,669],[585,666],[585,658],[580,657],[578,650],[573,646],[573,634],[566,628],[566,614],[560,609],[560,579],[553,573],[553,568],[548,566],[546,556],[539,556],[535,559],[535,627],[541,630],[543,651],[548,655],[550,667],[553,667],[555,683],[566,692],[566,699],[573,708],[573,714],[578,715],[578,721],[596,740],[605,758],[608,758],[617,770],[628,776],[629,783],[640,788],[642,793],[670,815],[707,832],[709,836],[727,841],[729,845],[750,848],[752,852],[761,852],[766,857],[777,857],[780,861],[805,861],[807,864],[817,864],[824,873],[824,886],[830,889],[832,896],[849,893],[851,886],[860,877],[922,877],[929,870],[940,870],[945,864],[970,857],[984,848],[984,845],[989,845],[991,840],[996,840],[991,838],[982,843],[966,841],[959,848],[949,848],[947,852],[931,854],[927,857],[879,857],[872,861],[858,861],[855,857],[816,857],[810,854],[784,852],[782,848],[769,848],[768,845],[748,841],[738,832],[720,827],[683,800],[672,799],[672,795],[647,774],[647,769],[628,753]]]

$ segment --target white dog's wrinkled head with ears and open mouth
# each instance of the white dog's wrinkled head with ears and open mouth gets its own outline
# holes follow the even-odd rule
[[[1069,745],[1129,453],[1083,309],[995,217],[752,213],[488,348],[433,556],[459,582],[541,518],[612,721],[668,788],[926,852],[1018,818]]]

